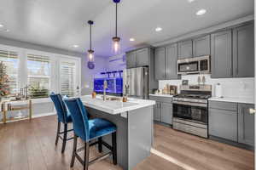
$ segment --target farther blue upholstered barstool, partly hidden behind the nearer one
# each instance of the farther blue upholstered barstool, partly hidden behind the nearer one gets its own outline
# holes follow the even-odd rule
[[[55,145],[58,144],[59,138],[62,139],[62,148],[61,148],[61,153],[65,151],[66,143],[67,140],[73,139],[69,138],[67,139],[67,133],[70,131],[73,131],[73,129],[67,130],[67,124],[72,122],[71,115],[69,111],[67,111],[66,105],[63,102],[63,99],[61,97],[61,94],[50,94],[49,95],[50,99],[52,99],[54,105],[55,105],[55,110],[57,111],[57,116],[58,116],[58,127],[57,127],[57,135],[55,139]],[[64,131],[61,131],[61,123],[64,124]],[[61,134],[63,134],[63,138],[61,137]]]

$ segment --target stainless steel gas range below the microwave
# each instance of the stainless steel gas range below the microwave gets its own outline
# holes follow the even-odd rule
[[[208,138],[208,99],[211,85],[186,85],[173,97],[173,128]]]

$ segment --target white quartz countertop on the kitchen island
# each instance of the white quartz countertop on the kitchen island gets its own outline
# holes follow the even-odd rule
[[[128,98],[127,102],[121,102],[120,100],[103,101],[102,95],[97,95],[96,99],[92,99],[91,95],[85,95],[81,97],[81,100],[85,106],[99,111],[104,111],[112,115],[155,105],[155,101],[146,99]]]

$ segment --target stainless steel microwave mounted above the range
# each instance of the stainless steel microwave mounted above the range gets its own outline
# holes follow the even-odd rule
[[[211,58],[209,55],[189,59],[177,59],[177,74],[201,73],[211,73]]]

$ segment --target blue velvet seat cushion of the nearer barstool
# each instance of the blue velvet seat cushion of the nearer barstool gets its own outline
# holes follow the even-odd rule
[[[102,118],[90,119],[89,121],[90,140],[113,133],[116,126],[112,122],[108,122]]]

